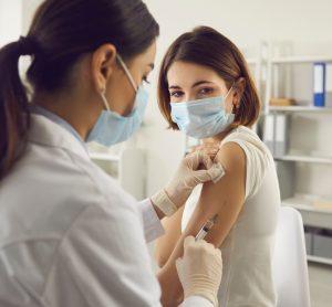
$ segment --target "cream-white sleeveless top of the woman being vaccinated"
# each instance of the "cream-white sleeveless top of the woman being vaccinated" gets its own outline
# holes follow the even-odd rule
[[[259,137],[240,126],[220,144],[237,142],[246,154],[246,194],[242,210],[220,246],[224,272],[218,299],[222,307],[272,307],[274,234],[280,208],[279,183],[271,154]],[[201,186],[186,202],[181,231],[198,201]]]

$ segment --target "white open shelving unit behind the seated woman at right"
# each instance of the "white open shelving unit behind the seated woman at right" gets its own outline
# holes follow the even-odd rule
[[[274,119],[280,115],[286,118],[286,128],[278,125],[282,121],[274,120],[272,139],[276,145],[278,131],[281,131],[281,138],[286,137],[283,139],[284,150],[279,154],[278,150],[274,150],[273,155],[282,205],[290,205],[299,210],[305,229],[309,229],[305,235],[307,244],[310,245],[308,260],[332,264],[332,255],[330,256],[329,251],[325,251],[324,244],[322,244],[322,242],[332,243],[332,210],[317,205],[320,199],[332,200],[332,145],[330,141],[332,107],[314,107],[312,103],[313,64],[318,62],[332,63],[332,55],[269,55],[263,137],[271,140],[272,134],[269,130],[270,124],[268,124],[271,116],[274,116]],[[295,98],[298,104],[270,106],[271,97]],[[283,129],[287,131],[284,135]],[[322,233],[326,235],[323,236]]]

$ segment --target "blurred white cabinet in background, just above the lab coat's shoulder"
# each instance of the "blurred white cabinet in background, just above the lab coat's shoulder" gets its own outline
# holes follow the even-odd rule
[[[89,151],[92,161],[115,178],[125,191],[137,200],[145,198],[146,163],[142,149],[125,145],[107,149],[91,144]]]

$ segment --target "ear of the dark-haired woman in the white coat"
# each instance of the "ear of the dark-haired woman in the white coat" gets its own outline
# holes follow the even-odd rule
[[[92,54],[91,71],[93,85],[96,92],[106,88],[107,81],[116,62],[116,49],[112,44],[101,45]]]

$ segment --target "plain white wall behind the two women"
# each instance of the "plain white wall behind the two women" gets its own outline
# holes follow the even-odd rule
[[[4,2],[8,4],[15,1],[19,0],[0,0],[0,22],[4,21],[1,6]],[[25,33],[32,12],[41,0],[23,2],[23,33]],[[184,150],[184,137],[180,133],[166,130],[166,123],[158,112],[155,95],[158,64],[167,46],[179,34],[196,25],[205,24],[219,30],[242,50],[248,51],[249,55],[253,55],[261,40],[291,42],[295,54],[332,54],[330,0],[146,0],[145,2],[160,24],[156,71],[151,77],[149,106],[145,126],[138,138],[147,152],[147,194],[167,182]],[[3,27],[3,22],[0,23],[0,38],[3,38],[3,34],[1,35]],[[17,34],[13,35],[15,36]],[[324,120],[331,121],[329,118]],[[305,137],[302,136],[302,140],[305,141]],[[318,142],[322,146],[325,144],[324,139],[318,139]]]

